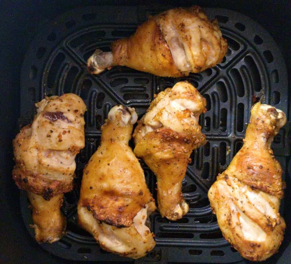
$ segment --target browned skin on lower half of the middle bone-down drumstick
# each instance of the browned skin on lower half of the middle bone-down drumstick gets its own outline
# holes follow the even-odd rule
[[[141,126],[139,123],[136,129]],[[177,220],[187,213],[188,207],[181,193],[182,180],[193,149],[203,145],[204,140],[202,134],[190,136],[161,128],[147,133],[136,145],[136,156],[142,157],[157,176],[158,206],[163,217]],[[183,214],[177,212],[177,205],[185,211]]]

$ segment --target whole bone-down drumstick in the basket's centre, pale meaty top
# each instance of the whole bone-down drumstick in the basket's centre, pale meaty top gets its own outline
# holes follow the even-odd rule
[[[206,100],[188,82],[160,92],[134,130],[134,153],[157,177],[162,217],[182,218],[189,210],[181,189],[191,152],[205,143],[198,124]]]

